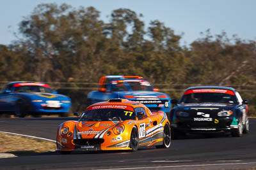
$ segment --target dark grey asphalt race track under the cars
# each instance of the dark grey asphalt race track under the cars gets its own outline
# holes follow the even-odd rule
[[[76,118],[0,118],[0,131],[56,139],[58,124]],[[1,151],[0,151],[1,152]],[[0,159],[0,169],[245,169],[256,168],[256,118],[242,138],[189,135],[168,149],[137,152],[77,152]]]

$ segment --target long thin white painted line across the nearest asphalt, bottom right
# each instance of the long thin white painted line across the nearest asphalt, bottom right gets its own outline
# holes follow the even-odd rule
[[[148,167],[126,167],[126,168],[109,168],[108,170],[119,169],[152,169],[152,168],[167,168],[167,167],[196,167],[196,166],[225,166],[225,165],[239,165],[239,164],[256,164],[256,162],[241,162],[241,163],[228,163],[228,164],[198,164],[198,165],[186,165],[186,166],[148,166]],[[98,169],[107,170],[107,169]]]

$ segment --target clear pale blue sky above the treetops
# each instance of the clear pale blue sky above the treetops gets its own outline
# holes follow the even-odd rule
[[[0,44],[17,40],[14,33],[19,32],[19,22],[41,3],[93,6],[105,23],[113,10],[127,8],[141,13],[146,27],[150,21],[159,20],[175,34],[183,34],[182,45],[203,38],[200,32],[207,29],[212,35],[225,31],[229,38],[236,34],[244,40],[256,40],[255,0],[8,0],[0,4]]]

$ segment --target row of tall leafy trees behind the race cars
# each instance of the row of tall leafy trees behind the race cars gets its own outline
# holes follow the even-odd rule
[[[192,85],[228,85],[250,99],[256,115],[255,41],[207,30],[182,46],[182,35],[159,20],[145,27],[143,15],[132,10],[114,10],[104,22],[92,6],[55,3],[36,6],[18,35],[0,45],[0,80],[52,82],[70,96],[73,111],[86,107],[100,76],[122,74],[143,76],[176,99]]]

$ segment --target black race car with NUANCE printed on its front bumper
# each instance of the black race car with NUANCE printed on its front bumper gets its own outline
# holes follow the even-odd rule
[[[249,132],[248,100],[231,87],[198,86],[185,90],[170,111],[173,134],[231,132],[241,137]]]

